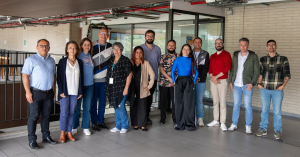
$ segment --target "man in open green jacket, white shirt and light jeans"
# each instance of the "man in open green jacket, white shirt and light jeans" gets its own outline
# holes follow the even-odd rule
[[[244,95],[244,106],[246,109],[246,134],[251,134],[252,124],[252,94],[253,87],[259,77],[259,61],[253,51],[249,51],[249,40],[241,38],[239,40],[240,51],[233,53],[232,66],[229,75],[229,83],[233,92],[233,113],[232,124],[228,131],[237,129],[237,123],[240,115],[242,95]]]

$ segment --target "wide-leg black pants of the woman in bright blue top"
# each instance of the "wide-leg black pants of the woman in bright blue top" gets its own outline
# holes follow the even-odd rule
[[[177,128],[189,131],[195,127],[195,90],[191,76],[178,76],[175,83],[175,115]]]

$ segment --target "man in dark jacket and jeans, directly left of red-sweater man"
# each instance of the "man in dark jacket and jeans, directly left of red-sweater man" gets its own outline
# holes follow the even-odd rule
[[[196,60],[199,77],[195,84],[195,98],[196,98],[196,113],[197,113],[197,123],[199,126],[203,127],[203,96],[205,92],[205,82],[206,76],[209,68],[209,53],[202,50],[202,39],[197,37],[193,42],[194,50],[193,54]]]

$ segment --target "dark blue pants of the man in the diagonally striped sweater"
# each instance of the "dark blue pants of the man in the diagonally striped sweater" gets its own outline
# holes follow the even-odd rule
[[[98,104],[98,113],[97,113],[97,102]],[[103,123],[104,122],[104,113],[105,113],[105,82],[95,82],[94,83],[94,94],[92,99],[91,106],[91,119],[93,124]]]

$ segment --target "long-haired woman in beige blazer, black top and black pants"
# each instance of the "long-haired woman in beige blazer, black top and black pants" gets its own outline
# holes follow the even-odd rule
[[[131,56],[133,79],[131,81],[130,119],[134,130],[147,131],[147,97],[154,84],[155,74],[148,61],[144,60],[141,46],[134,48]],[[150,78],[150,80],[149,80]]]

